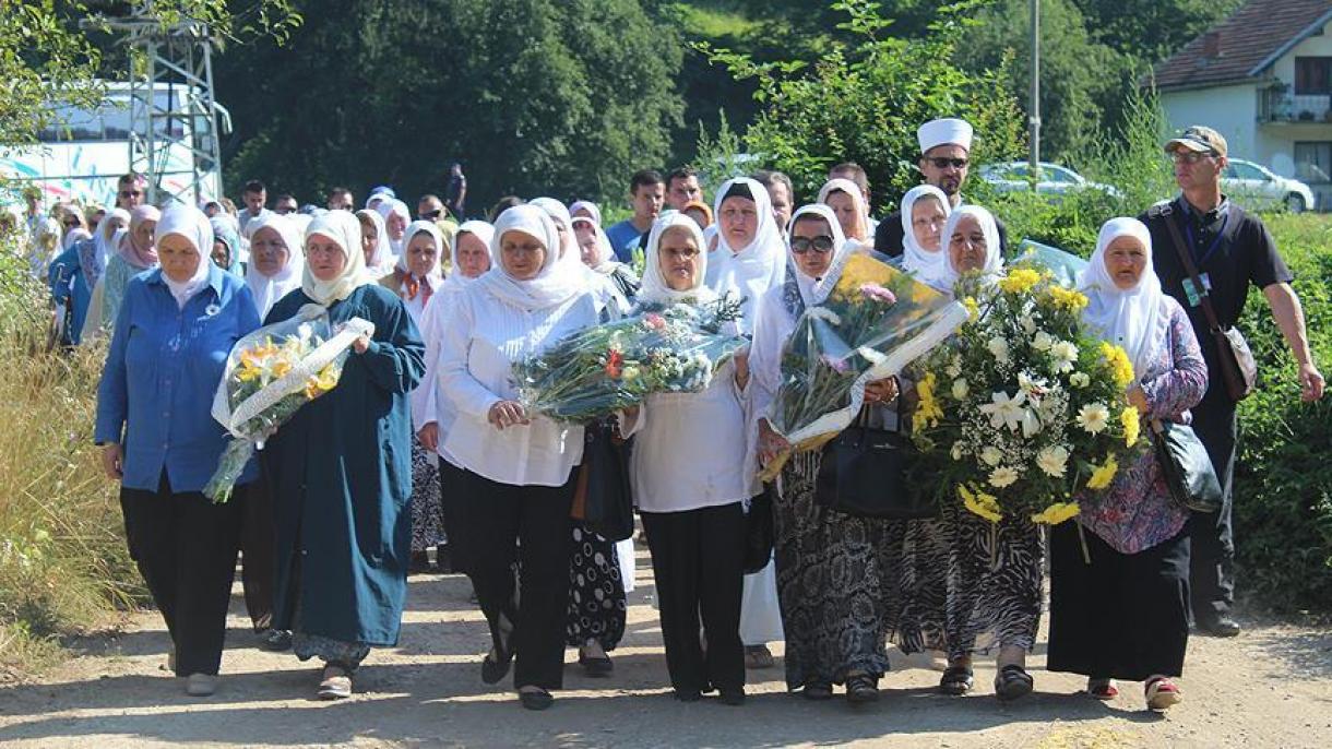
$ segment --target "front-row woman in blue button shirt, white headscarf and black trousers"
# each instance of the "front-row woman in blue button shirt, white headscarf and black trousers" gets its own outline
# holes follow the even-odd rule
[[[135,276],[116,315],[97,388],[93,438],[120,481],[129,553],[157,604],[185,690],[217,686],[240,542],[238,501],[202,494],[226,442],[210,416],[226,356],[258,328],[245,281],[209,260],[213,229],[196,208],[168,209],[161,265]],[[253,464],[237,484],[256,477]]]

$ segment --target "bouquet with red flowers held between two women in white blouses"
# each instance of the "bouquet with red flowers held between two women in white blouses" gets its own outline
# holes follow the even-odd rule
[[[518,397],[533,412],[577,424],[637,405],[651,393],[697,393],[746,340],[723,331],[739,301],[639,305],[633,315],[566,336],[514,364]]]

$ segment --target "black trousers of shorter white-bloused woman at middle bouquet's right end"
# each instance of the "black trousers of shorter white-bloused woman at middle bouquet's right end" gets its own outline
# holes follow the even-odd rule
[[[741,596],[745,510],[739,502],[641,513],[661,601],[666,668],[678,692],[745,686]],[[707,650],[698,640],[702,616]]]

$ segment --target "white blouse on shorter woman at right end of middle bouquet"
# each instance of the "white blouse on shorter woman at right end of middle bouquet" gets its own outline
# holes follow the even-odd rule
[[[685,512],[758,494],[747,453],[746,394],[726,363],[701,393],[654,393],[629,429],[630,478],[643,512]]]

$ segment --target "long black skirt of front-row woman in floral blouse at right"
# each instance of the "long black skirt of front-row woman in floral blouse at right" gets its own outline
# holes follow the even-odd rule
[[[1076,522],[1050,533],[1048,669],[1146,681],[1180,676],[1188,648],[1188,532],[1136,554]]]

